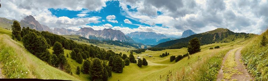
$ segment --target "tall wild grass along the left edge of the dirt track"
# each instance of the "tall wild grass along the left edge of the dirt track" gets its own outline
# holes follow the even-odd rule
[[[206,57],[199,57],[198,61],[191,64],[189,69],[183,67],[180,71],[169,73],[165,76],[167,81],[213,81],[217,79],[218,70],[221,68],[224,55],[231,48],[214,49]],[[197,53],[199,54],[199,53]],[[191,58],[190,58],[191,59]]]

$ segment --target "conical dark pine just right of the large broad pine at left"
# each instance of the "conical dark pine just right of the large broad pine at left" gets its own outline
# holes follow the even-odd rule
[[[57,56],[59,56],[60,54],[64,54],[64,51],[60,42],[55,42],[52,50],[53,50],[53,54],[56,54]]]

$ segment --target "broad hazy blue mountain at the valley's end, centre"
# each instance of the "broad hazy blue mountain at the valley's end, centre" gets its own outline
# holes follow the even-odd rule
[[[156,45],[162,42],[177,39],[168,38],[166,35],[158,34],[155,32],[131,32],[127,34],[127,36],[131,37],[135,42],[143,43],[146,45]]]

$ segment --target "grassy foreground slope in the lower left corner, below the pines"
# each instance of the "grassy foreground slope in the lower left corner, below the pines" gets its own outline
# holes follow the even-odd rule
[[[27,52],[21,43],[12,40],[10,36],[1,35],[0,40],[1,68],[6,78],[79,80]]]

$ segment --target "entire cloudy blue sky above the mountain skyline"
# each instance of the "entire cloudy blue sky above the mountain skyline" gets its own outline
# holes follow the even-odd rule
[[[268,26],[268,0],[1,0],[0,17],[32,15],[53,28],[111,28],[124,34],[156,32],[180,37],[216,28],[260,34]]]

